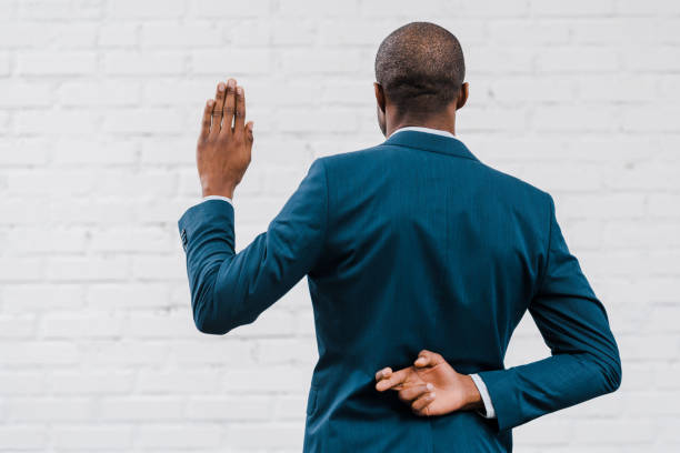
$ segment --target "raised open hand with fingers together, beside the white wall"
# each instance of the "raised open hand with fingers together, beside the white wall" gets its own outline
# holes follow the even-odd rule
[[[206,103],[196,160],[203,197],[233,198],[252,150],[253,122],[246,122],[246,93],[234,79],[218,83],[216,99]],[[232,125],[233,124],[233,125]]]

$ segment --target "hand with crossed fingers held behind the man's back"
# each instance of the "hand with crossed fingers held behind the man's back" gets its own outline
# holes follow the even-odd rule
[[[454,411],[482,409],[477,385],[460,374],[438,353],[422,350],[413,365],[376,373],[376,390],[399,392],[399,399],[417,415],[444,415]]]

